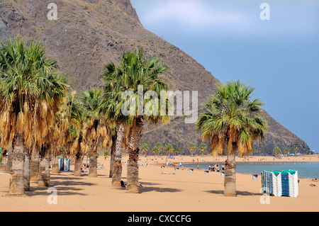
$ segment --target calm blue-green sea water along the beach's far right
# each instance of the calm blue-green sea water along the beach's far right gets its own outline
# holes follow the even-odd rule
[[[184,164],[186,168],[197,169],[197,164],[199,169],[208,170],[211,164],[220,164],[222,162],[213,163],[194,163],[194,164]],[[237,162],[237,173],[241,174],[258,174],[262,171],[283,171],[286,169],[293,169],[298,171],[298,177],[303,179],[319,179],[319,162]]]

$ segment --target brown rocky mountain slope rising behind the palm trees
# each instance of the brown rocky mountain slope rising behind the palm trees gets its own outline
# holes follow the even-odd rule
[[[57,6],[57,20],[49,19]],[[101,85],[103,65],[118,62],[123,51],[143,48],[145,55],[160,57],[172,73],[165,76],[172,91],[198,91],[199,107],[216,91],[220,81],[196,60],[143,28],[130,0],[0,0],[0,40],[21,36],[45,44],[48,54],[65,69],[69,84],[81,91]],[[298,145],[309,150],[303,140],[265,113],[270,132],[257,149],[272,154],[275,146]],[[189,143],[201,143],[201,133],[184,117],[166,125],[145,125],[144,140],[172,143],[188,150]]]

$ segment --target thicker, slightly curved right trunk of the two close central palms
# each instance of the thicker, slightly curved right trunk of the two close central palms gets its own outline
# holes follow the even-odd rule
[[[139,142],[142,137],[143,119],[138,117],[135,120],[135,128],[131,129],[130,142],[128,143],[128,177],[127,190],[130,193],[139,193],[138,187],[138,159],[140,154]]]

